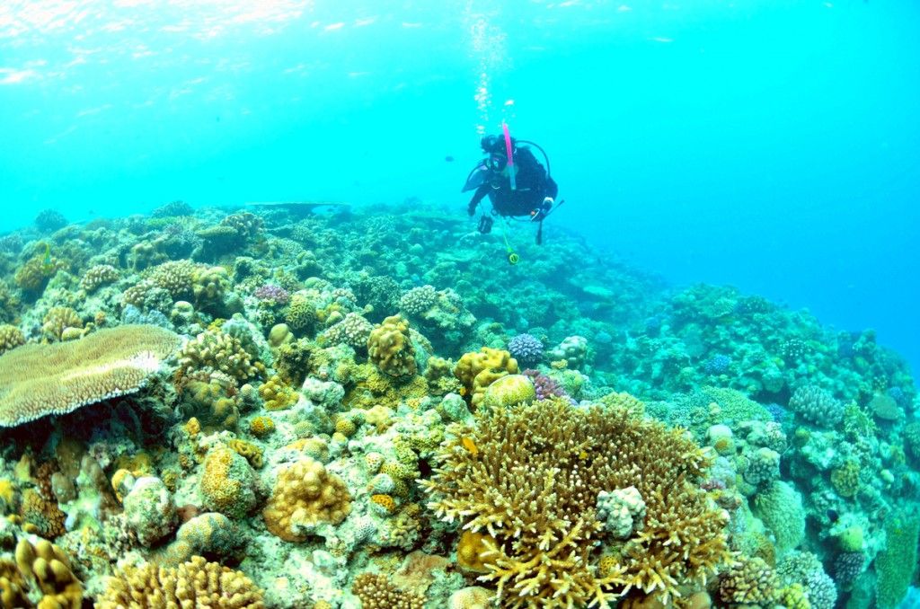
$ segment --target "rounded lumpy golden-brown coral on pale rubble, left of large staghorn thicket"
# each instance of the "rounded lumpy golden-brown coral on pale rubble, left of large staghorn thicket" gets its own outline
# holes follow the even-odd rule
[[[320,523],[339,524],[351,512],[351,494],[342,479],[305,457],[283,470],[262,516],[271,534],[302,542]]]

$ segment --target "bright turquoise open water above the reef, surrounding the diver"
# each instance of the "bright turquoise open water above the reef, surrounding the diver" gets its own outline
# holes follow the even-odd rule
[[[507,120],[567,201],[546,238],[874,327],[916,370],[918,31],[907,0],[7,2],[0,232],[173,200],[471,222]]]

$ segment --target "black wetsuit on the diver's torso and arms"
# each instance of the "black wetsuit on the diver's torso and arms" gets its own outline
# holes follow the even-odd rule
[[[529,215],[539,210],[546,197],[556,198],[559,187],[556,181],[546,176],[546,169],[534,153],[523,146],[514,154],[514,175],[516,189],[512,190],[511,179],[500,172],[485,169],[489,175],[477,188],[469,201],[470,214],[474,213],[479,201],[488,194],[492,208],[500,215]]]

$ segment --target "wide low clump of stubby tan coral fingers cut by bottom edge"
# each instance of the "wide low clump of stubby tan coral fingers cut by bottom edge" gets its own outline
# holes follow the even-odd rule
[[[128,565],[109,579],[99,609],[264,609],[262,590],[239,571],[192,557],[178,568]]]

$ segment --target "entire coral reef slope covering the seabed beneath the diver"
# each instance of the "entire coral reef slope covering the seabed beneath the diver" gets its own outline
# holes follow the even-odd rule
[[[0,238],[3,607],[915,593],[918,400],[871,330],[412,209]]]

